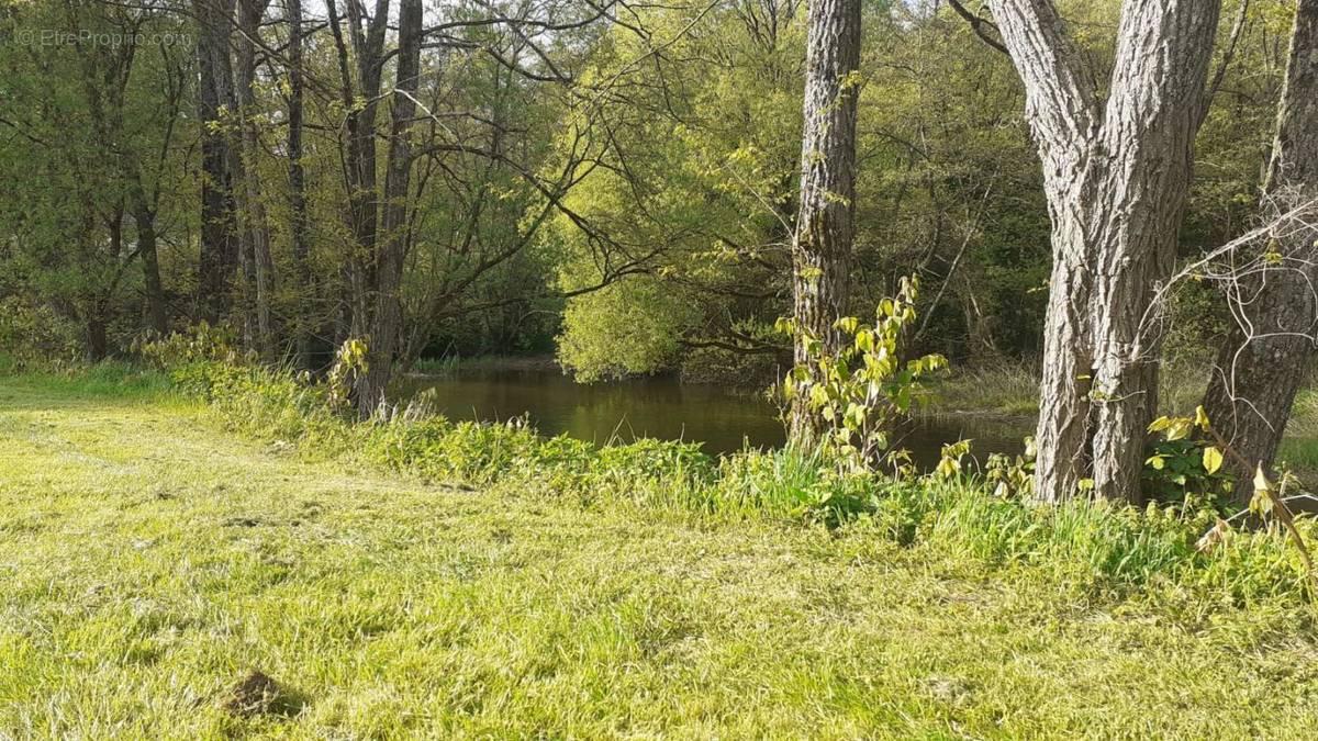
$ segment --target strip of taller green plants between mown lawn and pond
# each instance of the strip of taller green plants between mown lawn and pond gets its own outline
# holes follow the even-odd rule
[[[1218,512],[1151,505],[1140,510],[1075,501],[1043,506],[992,493],[973,465],[942,476],[845,473],[797,450],[710,458],[693,443],[594,446],[543,438],[523,422],[453,422],[423,409],[384,409],[352,422],[322,386],[254,365],[195,361],[171,370],[232,430],[294,444],[306,456],[352,456],[407,476],[501,497],[568,497],[633,508],[638,517],[696,525],[767,518],[862,530],[931,558],[977,568],[1028,570],[1078,599],[1217,609],[1290,610],[1307,603],[1298,555],[1269,530],[1234,531],[1197,548]],[[1313,521],[1300,522],[1315,538]]]

